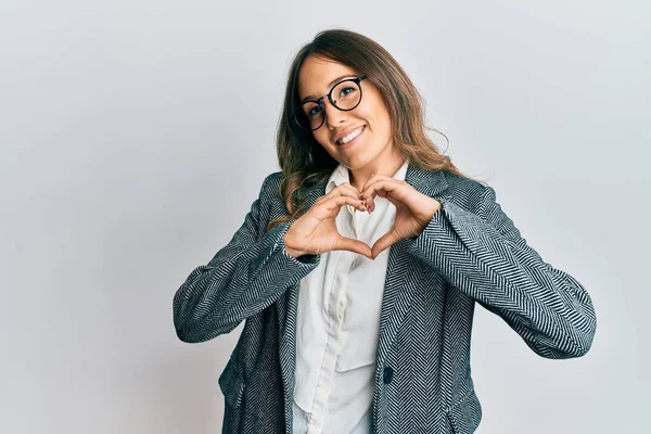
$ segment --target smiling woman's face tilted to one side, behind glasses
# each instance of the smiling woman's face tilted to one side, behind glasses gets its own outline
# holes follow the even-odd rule
[[[363,72],[309,55],[298,72],[298,97],[316,100],[327,94],[336,78],[356,78]],[[334,80],[334,82],[333,82]],[[360,82],[362,98],[357,107],[344,112],[332,105],[328,97],[324,104],[326,120],[312,135],[321,146],[339,163],[352,170],[380,173],[381,167],[395,158],[391,119],[378,88],[370,79]],[[337,92],[339,93],[339,92]],[[332,95],[333,100],[343,94]],[[340,139],[353,140],[342,144]]]

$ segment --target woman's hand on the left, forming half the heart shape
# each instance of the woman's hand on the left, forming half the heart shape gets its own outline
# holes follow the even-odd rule
[[[349,182],[344,182],[317,199],[285,233],[284,243],[288,254],[297,258],[306,254],[349,251],[371,258],[371,247],[359,240],[342,237],[336,229],[335,218],[345,204],[359,210],[367,209],[359,191]]]

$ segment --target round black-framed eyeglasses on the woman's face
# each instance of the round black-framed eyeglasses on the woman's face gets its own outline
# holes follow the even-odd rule
[[[366,75],[357,78],[346,78],[339,81],[330,89],[330,92],[318,100],[303,101],[294,111],[292,117],[298,126],[308,131],[321,128],[326,120],[326,105],[323,98],[328,97],[330,103],[342,112],[349,112],[361,102],[361,80]],[[334,99],[333,99],[334,94]]]

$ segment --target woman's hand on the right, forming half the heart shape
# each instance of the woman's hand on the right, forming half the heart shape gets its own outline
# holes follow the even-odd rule
[[[392,244],[408,238],[417,238],[441,209],[441,202],[432,199],[406,181],[373,175],[361,189],[361,197],[369,212],[375,209],[375,196],[385,197],[396,206],[393,228],[372,246],[372,258]]]

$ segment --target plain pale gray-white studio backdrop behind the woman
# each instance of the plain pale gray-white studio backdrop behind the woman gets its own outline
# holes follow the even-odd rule
[[[186,344],[171,301],[279,170],[290,60],[383,44],[433,139],[597,310],[582,358],[477,305],[480,434],[649,432],[647,1],[0,4],[0,431],[220,432],[242,326]],[[647,367],[647,368],[644,368]]]

